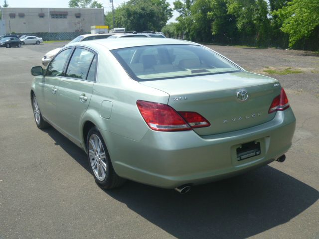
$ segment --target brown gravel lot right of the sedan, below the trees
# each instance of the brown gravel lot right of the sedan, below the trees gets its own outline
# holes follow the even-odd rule
[[[209,48],[228,57],[247,71],[267,75],[277,80],[284,88],[297,92],[314,93],[319,97],[319,54],[306,51],[258,49],[249,47],[209,45]],[[291,67],[303,73],[269,75],[267,69],[282,70]]]

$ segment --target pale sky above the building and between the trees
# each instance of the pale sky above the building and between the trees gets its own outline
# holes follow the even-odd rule
[[[105,11],[112,10],[112,3],[109,0],[98,0],[105,7]],[[114,7],[117,7],[127,0],[114,0]],[[173,7],[174,0],[167,0]],[[1,6],[4,0],[0,0]],[[68,0],[7,0],[9,7],[68,7]],[[173,12],[173,17],[168,21],[172,22],[178,16],[177,12]]]

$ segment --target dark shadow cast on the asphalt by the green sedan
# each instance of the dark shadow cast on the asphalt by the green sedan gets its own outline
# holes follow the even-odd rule
[[[54,129],[46,132],[90,172],[80,148]],[[248,238],[289,222],[319,199],[316,189],[271,166],[184,195],[132,181],[104,191],[179,239]]]

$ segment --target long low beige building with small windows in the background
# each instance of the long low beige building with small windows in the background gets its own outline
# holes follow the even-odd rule
[[[2,7],[7,33],[90,32],[104,25],[104,8]]]

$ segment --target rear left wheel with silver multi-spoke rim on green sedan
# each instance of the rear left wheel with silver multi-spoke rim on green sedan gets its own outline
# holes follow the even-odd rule
[[[125,183],[112,166],[103,137],[97,127],[92,127],[86,139],[86,149],[95,182],[104,189],[112,189]]]

